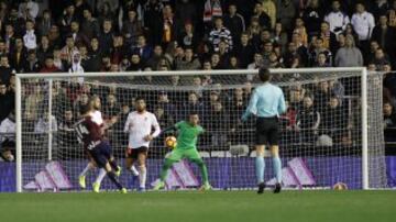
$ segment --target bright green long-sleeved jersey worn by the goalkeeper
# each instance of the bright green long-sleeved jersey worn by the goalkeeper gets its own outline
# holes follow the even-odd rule
[[[175,127],[179,131],[176,148],[197,148],[198,135],[204,133],[202,126],[193,126],[188,122],[182,121],[176,123]]]

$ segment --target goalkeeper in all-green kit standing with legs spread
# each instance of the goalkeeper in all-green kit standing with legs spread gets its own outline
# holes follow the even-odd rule
[[[211,186],[208,179],[208,169],[197,151],[198,135],[204,133],[204,129],[198,125],[199,116],[196,112],[189,114],[188,121],[182,121],[174,126],[165,129],[162,133],[167,131],[178,130],[176,148],[165,158],[164,166],[160,175],[160,182],[154,187],[154,190],[160,190],[165,187],[165,178],[168,169],[174,163],[179,162],[183,158],[187,158],[190,162],[198,165],[202,175],[202,186],[200,190],[210,190]]]

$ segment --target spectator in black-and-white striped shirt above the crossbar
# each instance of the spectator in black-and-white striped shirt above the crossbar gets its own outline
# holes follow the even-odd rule
[[[215,27],[209,33],[209,41],[212,44],[215,52],[219,52],[219,44],[221,41],[224,41],[229,49],[232,49],[232,36],[230,30],[223,26],[223,21],[221,18],[215,19]]]

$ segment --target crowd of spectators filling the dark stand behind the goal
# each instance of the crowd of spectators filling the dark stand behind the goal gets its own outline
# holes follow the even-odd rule
[[[392,74],[396,68],[395,40],[396,0],[1,0],[0,131],[12,132],[14,127],[15,73],[255,69],[262,66],[366,66],[372,71],[384,71],[384,125],[392,129],[396,126],[396,75]],[[144,80],[156,84],[150,78]],[[178,85],[183,80],[173,77],[169,81]],[[248,76],[243,82],[249,86],[253,80],[254,77]],[[198,87],[215,84],[218,84],[216,79],[206,77],[193,79],[193,85]],[[331,80],[319,84],[316,90],[308,86],[286,89],[288,114],[297,116],[286,126],[336,127],[329,124],[327,111],[320,109],[340,107],[332,113],[342,116],[348,112],[343,96],[355,91],[349,89],[353,85]],[[43,90],[47,89],[31,86],[23,99],[23,116],[37,133],[48,127],[48,121],[37,109],[45,100]],[[227,111],[222,116],[237,124],[232,120],[245,108],[250,90],[251,87],[228,90],[230,97],[222,95],[223,91],[196,90],[185,96],[186,102],[158,106],[173,99],[167,98],[165,91],[158,98],[155,96],[152,101],[156,103],[151,106],[158,119],[172,115],[169,112],[174,110],[189,109],[184,106],[208,106],[199,109]],[[96,86],[81,82],[62,82],[55,85],[53,91],[59,101],[68,101],[67,108],[62,113],[55,112],[52,121],[51,127],[59,131],[72,131],[66,122],[72,124],[80,106],[98,92]],[[131,102],[120,98],[123,95],[120,89],[109,87],[99,91],[106,91],[100,96],[108,121],[121,127],[122,119],[132,109]],[[221,98],[221,102],[211,101],[215,97]],[[183,115],[180,111],[175,113],[175,119]],[[302,114],[309,121],[298,119]],[[219,119],[212,119],[216,120]],[[221,127],[234,131],[237,126]],[[352,140],[341,134],[340,141]],[[388,140],[395,140],[392,135],[388,130]],[[215,140],[221,141],[226,138]]]

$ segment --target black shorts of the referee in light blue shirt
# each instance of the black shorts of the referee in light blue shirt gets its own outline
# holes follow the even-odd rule
[[[279,145],[278,118],[257,118],[256,145]]]

